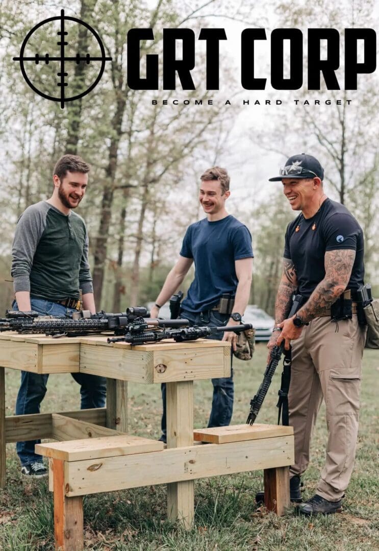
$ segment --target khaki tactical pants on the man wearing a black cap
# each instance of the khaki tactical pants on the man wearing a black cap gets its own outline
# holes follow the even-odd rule
[[[326,462],[316,493],[338,501],[353,471],[358,435],[361,359],[366,329],[357,316],[338,323],[316,317],[292,344],[289,424],[295,433],[295,464],[290,476],[308,466],[310,444],[322,398],[326,403]]]

